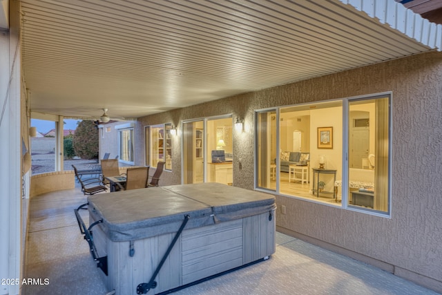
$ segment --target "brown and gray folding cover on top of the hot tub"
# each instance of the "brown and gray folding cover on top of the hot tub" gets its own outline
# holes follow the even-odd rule
[[[184,184],[88,197],[90,216],[113,241],[140,240],[276,209],[275,198],[218,183]]]

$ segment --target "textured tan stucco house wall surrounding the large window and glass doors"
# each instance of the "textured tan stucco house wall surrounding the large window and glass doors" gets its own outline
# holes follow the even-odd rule
[[[442,54],[425,53],[342,73],[245,93],[142,117],[137,162],[144,164],[144,126],[232,113],[244,118],[233,132],[234,185],[253,189],[253,111],[392,91],[392,218],[308,200],[277,197],[277,226],[348,253],[442,292]],[[180,128],[178,129],[180,134]],[[142,139],[142,140],[140,140]],[[162,184],[180,184],[180,136],[173,138],[173,171]],[[241,159],[241,162],[239,161]],[[281,205],[287,214],[280,214]]]

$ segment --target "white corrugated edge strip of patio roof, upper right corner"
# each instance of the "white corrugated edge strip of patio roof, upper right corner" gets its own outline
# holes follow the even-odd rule
[[[386,23],[432,49],[442,51],[442,25],[432,23],[392,0],[338,0]]]

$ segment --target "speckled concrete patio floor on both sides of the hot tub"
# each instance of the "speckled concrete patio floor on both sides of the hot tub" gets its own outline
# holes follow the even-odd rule
[[[113,294],[77,225],[74,209],[85,202],[79,188],[30,200],[25,278],[48,278],[49,283],[25,285],[21,294]],[[81,211],[88,220],[87,211]],[[438,294],[285,234],[277,233],[276,245],[269,260],[175,294]]]

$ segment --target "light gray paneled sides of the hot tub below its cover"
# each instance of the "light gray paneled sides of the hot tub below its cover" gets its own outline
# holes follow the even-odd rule
[[[155,279],[157,287],[148,294],[165,292],[195,280],[227,271],[270,256],[275,252],[275,216],[269,212],[239,220],[185,229]],[[97,251],[108,255],[108,291],[136,294],[137,285],[148,283],[175,233],[133,241],[114,242],[106,238],[102,225],[94,228]]]

